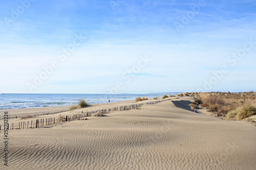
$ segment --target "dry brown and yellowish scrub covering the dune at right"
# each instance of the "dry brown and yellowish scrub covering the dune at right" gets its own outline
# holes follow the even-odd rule
[[[253,91],[199,93],[197,97],[202,101],[201,107],[227,120],[241,120],[256,114],[256,93]]]

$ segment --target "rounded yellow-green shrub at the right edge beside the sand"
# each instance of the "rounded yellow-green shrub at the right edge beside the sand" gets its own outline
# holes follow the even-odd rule
[[[251,104],[243,105],[236,109],[237,119],[241,120],[256,113],[256,106]]]

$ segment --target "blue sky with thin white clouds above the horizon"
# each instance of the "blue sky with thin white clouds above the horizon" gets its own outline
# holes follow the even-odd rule
[[[256,91],[256,1],[0,2],[2,93]]]

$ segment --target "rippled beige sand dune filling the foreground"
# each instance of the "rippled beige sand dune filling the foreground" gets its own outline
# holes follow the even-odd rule
[[[0,169],[255,169],[256,127],[192,112],[192,100],[9,130],[9,166]]]

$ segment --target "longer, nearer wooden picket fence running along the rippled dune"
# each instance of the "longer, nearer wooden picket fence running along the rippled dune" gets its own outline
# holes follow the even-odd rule
[[[178,98],[175,98],[175,99],[178,99]],[[139,109],[139,107],[142,105],[153,105],[159,102],[169,101],[169,100],[173,100],[173,99],[164,99],[164,100],[157,100],[157,101],[146,102],[146,103],[119,106],[119,107],[114,107],[110,109],[91,110],[86,112],[82,111],[81,113],[73,114],[70,116],[66,115],[66,116],[58,116],[58,117],[40,118],[35,120],[25,120],[23,122],[19,122],[18,127],[16,127],[15,129],[40,128],[40,127],[49,126],[49,125],[53,125],[60,122],[68,122],[72,120],[87,120],[87,118],[84,118],[84,117],[91,116],[94,113],[107,113],[107,112],[113,112],[113,111]],[[63,112],[63,111],[60,111],[60,112]],[[60,112],[56,112],[56,113],[60,113]],[[7,129],[8,130],[14,129],[13,123],[8,124]],[[0,130],[1,130],[1,125],[0,125]]]

